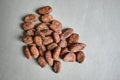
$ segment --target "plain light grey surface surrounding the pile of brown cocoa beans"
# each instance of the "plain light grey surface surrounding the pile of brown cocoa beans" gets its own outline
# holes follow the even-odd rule
[[[21,18],[44,5],[87,44],[83,64],[65,63],[59,74],[27,60]],[[120,80],[120,0],[0,0],[0,80]]]

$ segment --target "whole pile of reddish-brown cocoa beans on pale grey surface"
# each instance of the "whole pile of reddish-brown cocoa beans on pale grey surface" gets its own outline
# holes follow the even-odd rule
[[[52,8],[44,6],[37,10],[37,14],[24,17],[22,41],[24,54],[27,59],[35,59],[41,68],[47,64],[55,73],[60,72],[62,59],[65,62],[82,63],[85,55],[84,43],[79,43],[79,34],[72,28],[62,30],[62,24],[51,16]],[[39,21],[39,22],[38,22]]]

